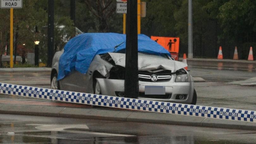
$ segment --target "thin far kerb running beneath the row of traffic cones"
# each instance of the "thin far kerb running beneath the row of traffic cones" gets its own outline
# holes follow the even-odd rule
[[[183,58],[179,58],[182,61]],[[187,58],[187,61],[211,61],[211,62],[232,62],[232,63],[256,63],[256,61],[248,60],[233,60],[233,59],[213,59],[213,58]]]

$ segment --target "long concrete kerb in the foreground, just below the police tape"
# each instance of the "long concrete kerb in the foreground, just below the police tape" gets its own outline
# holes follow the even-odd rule
[[[256,123],[230,121],[222,119],[182,116],[144,111],[116,110],[105,108],[70,108],[30,105],[2,105],[0,113],[34,115],[46,117],[70,117],[86,119],[117,120],[126,122],[175,124],[225,129],[256,130]]]

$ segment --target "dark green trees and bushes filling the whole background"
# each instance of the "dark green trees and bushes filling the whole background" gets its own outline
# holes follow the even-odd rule
[[[148,36],[180,37],[180,53],[187,52],[188,1],[142,1],[147,3],[147,14],[141,18],[141,32]],[[70,1],[54,2],[55,51],[61,50],[74,36],[74,26],[85,33],[123,31],[123,15],[114,12],[115,0],[76,0],[75,23],[70,20]],[[233,49],[238,46],[240,57],[246,58],[249,46],[256,43],[256,1],[192,2],[194,56],[216,57],[221,45],[224,57],[233,57]],[[22,9],[14,9],[14,34],[16,31],[19,34],[18,45],[26,44],[26,49],[33,52],[34,41],[39,40],[43,62],[47,58],[47,7],[47,0],[24,0]],[[6,43],[9,45],[9,9],[0,9],[0,17],[1,54]]]

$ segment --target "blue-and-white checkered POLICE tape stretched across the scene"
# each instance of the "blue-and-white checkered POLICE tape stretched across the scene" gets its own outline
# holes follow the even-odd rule
[[[129,110],[256,122],[256,111],[104,96],[5,83],[0,83],[0,93]]]

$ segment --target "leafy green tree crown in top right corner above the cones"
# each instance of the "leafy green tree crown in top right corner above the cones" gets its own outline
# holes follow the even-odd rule
[[[256,33],[256,1],[230,0],[219,8],[217,18],[223,28],[221,38],[234,41],[250,41]],[[242,36],[244,40],[239,39]],[[255,39],[254,39],[255,40]]]

